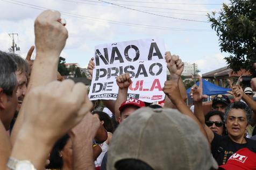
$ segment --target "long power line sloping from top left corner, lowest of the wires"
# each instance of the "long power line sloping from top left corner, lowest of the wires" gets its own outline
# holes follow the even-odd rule
[[[33,8],[33,9],[37,9],[37,10],[54,10],[54,9],[48,9],[48,8],[45,8],[45,7],[42,7],[42,6],[32,5],[32,4],[29,4],[29,3],[23,3],[23,2],[19,2],[19,1],[15,1],[15,0],[12,0],[12,2],[6,1],[6,0],[1,0],[1,1],[12,3],[12,4],[17,4],[17,5],[21,5],[21,6],[26,6],[28,8]],[[15,2],[13,2],[13,1],[15,1]],[[22,3],[22,4],[20,4],[20,3]],[[108,23],[116,24],[116,25],[125,25],[125,26],[151,28],[151,29],[163,29],[163,30],[171,30],[171,31],[193,31],[193,32],[211,31],[209,29],[175,28],[175,27],[125,23],[125,22],[121,22],[121,21],[114,21],[114,20],[99,19],[99,18],[95,18],[95,17],[88,17],[88,16],[83,16],[81,14],[74,14],[74,13],[69,13],[69,12],[65,12],[65,11],[60,11],[60,12],[64,15],[66,15],[66,16],[71,16],[71,17],[81,18],[81,19],[87,19],[87,20],[93,20],[93,21],[95,21],[95,20],[96,21],[108,21]]]

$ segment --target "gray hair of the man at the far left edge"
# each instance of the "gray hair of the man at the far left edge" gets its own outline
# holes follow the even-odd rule
[[[0,51],[0,88],[3,88],[3,92],[9,96],[17,85],[15,75],[17,64],[11,56],[11,53]]]

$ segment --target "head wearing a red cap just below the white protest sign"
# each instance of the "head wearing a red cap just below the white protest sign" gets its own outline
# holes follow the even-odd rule
[[[145,107],[145,103],[141,100],[131,98],[124,101],[119,107],[121,116],[119,123],[129,117],[135,110],[140,107]]]

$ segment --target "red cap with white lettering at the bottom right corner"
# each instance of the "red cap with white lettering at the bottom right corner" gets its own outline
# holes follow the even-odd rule
[[[256,169],[256,153],[248,150],[246,147],[240,149],[232,154],[225,165],[219,166],[219,169]]]

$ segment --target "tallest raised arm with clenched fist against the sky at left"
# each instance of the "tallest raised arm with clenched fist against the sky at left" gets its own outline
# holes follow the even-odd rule
[[[32,88],[46,85],[57,78],[59,56],[68,38],[67,29],[61,25],[60,12],[50,10],[42,12],[34,23],[35,48],[37,55],[33,62],[29,86]],[[25,99],[23,104],[25,103]],[[11,134],[11,143],[15,142],[18,131],[24,120],[24,108],[20,109],[17,121]]]

